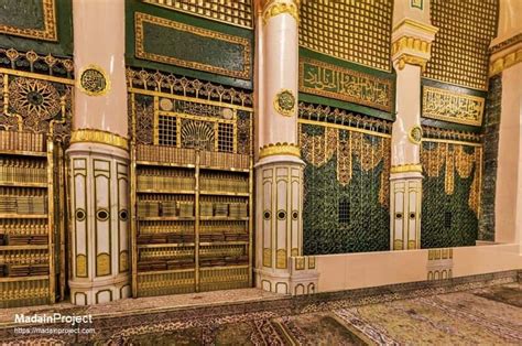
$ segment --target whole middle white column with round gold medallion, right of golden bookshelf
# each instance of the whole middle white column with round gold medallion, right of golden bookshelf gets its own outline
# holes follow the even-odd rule
[[[255,279],[267,291],[316,291],[315,258],[303,257],[303,166],[297,147],[298,1],[260,1],[257,90]]]

